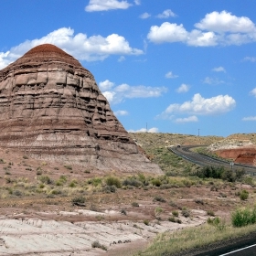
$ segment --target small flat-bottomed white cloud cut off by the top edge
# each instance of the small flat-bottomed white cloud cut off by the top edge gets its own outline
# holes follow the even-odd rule
[[[86,12],[109,11],[115,9],[127,9],[131,6],[127,1],[118,0],[90,0],[85,7]]]

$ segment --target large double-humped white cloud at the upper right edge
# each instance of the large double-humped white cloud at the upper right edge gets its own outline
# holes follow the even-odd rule
[[[250,18],[233,16],[226,11],[207,14],[195,29],[187,31],[182,24],[164,22],[152,26],[147,38],[156,43],[181,42],[193,47],[242,45],[256,41],[256,27]]]

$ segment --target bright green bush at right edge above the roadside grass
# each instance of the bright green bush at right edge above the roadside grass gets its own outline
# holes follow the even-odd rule
[[[231,222],[234,227],[244,227],[256,223],[256,207],[240,208],[231,215]]]

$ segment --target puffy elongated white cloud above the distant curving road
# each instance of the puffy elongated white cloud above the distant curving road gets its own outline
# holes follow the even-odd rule
[[[229,112],[235,106],[236,101],[229,95],[219,95],[205,99],[197,93],[193,96],[192,101],[186,101],[182,104],[170,104],[159,117],[169,118],[169,115],[175,113],[214,115]]]

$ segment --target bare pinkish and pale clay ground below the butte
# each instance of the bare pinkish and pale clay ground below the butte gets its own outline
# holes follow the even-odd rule
[[[13,186],[13,183],[6,183],[5,177],[14,180],[24,177],[27,183],[37,184],[37,166],[41,166],[43,175],[55,180],[60,175],[79,180],[99,175],[93,170],[90,174],[84,173],[84,168],[80,166],[73,166],[70,172],[63,163],[26,159],[21,153],[10,153],[3,149],[0,149],[0,158],[5,160],[5,164],[0,165],[2,187]],[[5,166],[10,162],[13,165],[6,175]],[[240,188],[237,185],[236,189]],[[250,190],[250,200],[253,202],[253,189],[246,188]],[[229,185],[219,187],[219,191],[211,191],[210,185],[118,189],[111,194],[89,191],[85,194],[86,206],[77,207],[72,206],[72,196],[69,195],[48,198],[35,193],[34,196],[16,197],[6,196],[5,190],[1,189],[0,255],[132,255],[142,250],[158,233],[201,225],[208,219],[208,210],[229,219],[230,209],[248,204],[240,202],[235,191]],[[221,197],[220,192],[227,197]],[[164,197],[166,202],[154,202],[156,195]],[[198,198],[203,200],[203,205],[196,202]],[[139,207],[132,207],[134,201]],[[170,204],[170,201],[175,204]],[[155,214],[157,207],[162,208],[163,212]],[[183,207],[191,210],[190,217],[182,216]],[[127,215],[121,213],[122,209]],[[173,210],[179,211],[181,224],[168,221]],[[149,225],[144,224],[145,219],[149,220]],[[94,241],[99,241],[107,251],[91,248]]]

